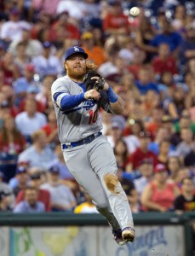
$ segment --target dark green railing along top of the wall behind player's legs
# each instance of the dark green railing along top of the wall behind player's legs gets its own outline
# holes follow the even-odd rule
[[[195,212],[177,215],[174,212],[146,212],[133,215],[136,225],[182,225],[185,234],[186,256],[192,255],[192,228]],[[107,225],[106,219],[100,214],[72,214],[66,212],[47,213],[0,213],[0,226],[67,226],[67,225]],[[1,227],[0,227],[1,228]],[[195,241],[194,241],[195,242]]]

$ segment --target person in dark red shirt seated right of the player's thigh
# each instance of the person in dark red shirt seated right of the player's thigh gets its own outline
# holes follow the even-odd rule
[[[148,145],[151,141],[151,134],[146,131],[141,131],[139,134],[140,147],[131,154],[127,160],[128,164],[126,166],[127,172],[132,172],[136,170],[139,166],[141,160],[147,158],[152,160],[153,166],[158,163],[157,156],[150,150],[148,150]]]

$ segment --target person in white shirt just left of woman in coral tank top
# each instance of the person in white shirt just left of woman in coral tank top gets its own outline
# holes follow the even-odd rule
[[[135,189],[138,192],[139,199],[141,200],[141,194],[145,189],[146,185],[152,181],[153,178],[153,164],[152,160],[144,158],[141,160],[138,166],[138,172],[140,172],[141,177],[135,178]]]

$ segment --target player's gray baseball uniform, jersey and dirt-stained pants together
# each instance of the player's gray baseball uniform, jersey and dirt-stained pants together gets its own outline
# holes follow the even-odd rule
[[[67,76],[56,79],[51,91],[60,143],[70,172],[89,193],[112,230],[133,226],[129,202],[120,183],[117,187],[119,193],[113,194],[104,182],[105,175],[116,174],[118,168],[110,143],[105,136],[100,135],[102,125],[96,102],[84,100],[74,108],[60,109],[63,96],[78,95],[85,91],[83,84],[77,84]],[[79,143],[93,134],[95,137],[90,143]]]

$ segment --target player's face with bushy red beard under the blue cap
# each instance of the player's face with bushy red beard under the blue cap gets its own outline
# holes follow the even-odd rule
[[[67,75],[72,79],[82,79],[86,72],[86,61],[83,55],[72,55],[65,62]]]

